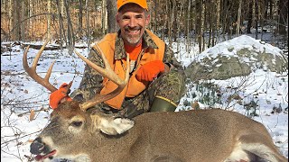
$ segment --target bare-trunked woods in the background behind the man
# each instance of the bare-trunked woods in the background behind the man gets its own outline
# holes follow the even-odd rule
[[[150,30],[170,46],[183,38],[187,50],[197,42],[201,52],[233,34],[254,30],[256,39],[270,31],[288,42],[288,0],[147,2]],[[50,38],[72,49],[78,40],[90,43],[117,31],[116,8],[116,0],[1,0],[1,41]]]

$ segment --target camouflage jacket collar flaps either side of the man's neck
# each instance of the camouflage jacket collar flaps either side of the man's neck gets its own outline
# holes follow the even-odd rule
[[[149,34],[146,31],[144,31],[143,49],[147,49],[147,48],[158,49],[152,37],[149,36]],[[119,30],[117,32],[117,40],[115,44],[115,59],[121,59],[121,58],[126,58],[126,50],[125,50],[124,41],[120,36],[120,30]]]

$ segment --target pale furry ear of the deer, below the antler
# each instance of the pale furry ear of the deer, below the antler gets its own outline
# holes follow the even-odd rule
[[[107,135],[117,135],[131,129],[134,125],[135,121],[127,118],[115,118],[113,120],[102,119],[99,129]]]

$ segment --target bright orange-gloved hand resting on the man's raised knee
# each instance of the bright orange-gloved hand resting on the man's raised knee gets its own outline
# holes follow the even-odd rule
[[[154,77],[157,77],[159,73],[164,72],[164,63],[161,60],[154,60],[147,62],[140,67],[136,72],[136,79],[138,81],[153,81]]]

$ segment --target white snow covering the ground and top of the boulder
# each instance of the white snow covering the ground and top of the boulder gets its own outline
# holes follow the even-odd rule
[[[34,44],[41,43],[34,42]],[[236,51],[243,48],[266,50],[266,52],[274,55],[283,53],[281,49],[247,35],[220,42],[196,55],[188,54],[182,43],[178,46],[176,43],[172,45],[174,51],[179,51],[182,54],[178,56],[184,67],[189,66],[192,60],[200,61],[205,57],[217,58],[219,54],[236,57]],[[195,47],[191,47],[191,49],[196,50]],[[82,55],[88,56],[88,49],[77,48],[77,50]],[[51,113],[51,109],[48,107],[50,92],[42,85],[35,83],[23,70],[23,51],[24,49],[21,49],[19,45],[15,45],[11,52],[2,52],[1,54],[1,160],[7,162],[29,161],[34,157],[29,151],[30,144],[42,128],[48,124]],[[28,61],[30,65],[32,65],[37,51],[36,49],[29,49]],[[51,74],[51,83],[59,87],[62,83],[69,83],[73,79],[71,91],[78,88],[84,70],[82,60],[75,54],[70,55],[67,49],[63,49],[63,51],[45,50],[39,60],[37,73],[40,76],[45,76],[53,60],[56,62]],[[252,61],[252,58],[247,58],[247,60]],[[204,94],[200,93],[198,85],[189,83],[187,85],[188,91],[182,97],[176,111],[191,109],[186,102],[197,101],[201,108],[213,106],[250,116],[266,126],[275,141],[275,145],[285,157],[288,157],[288,71],[283,74],[276,74],[258,69],[249,76],[232,77],[227,80],[206,80],[204,82],[219,86],[219,93],[222,94],[219,102],[201,103]],[[216,94],[216,92],[207,91],[212,95]],[[207,91],[204,90],[203,93],[207,93]],[[195,96],[192,95],[194,93]],[[232,94],[238,94],[242,100],[228,100]],[[255,114],[254,111],[247,110],[245,106],[252,101],[256,103],[256,109],[254,109],[256,115],[252,115]],[[280,107],[282,112],[271,113],[274,108]],[[32,109],[35,111],[35,117],[33,121],[30,121]]]

